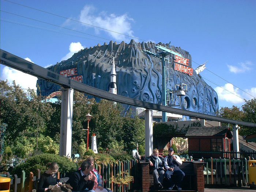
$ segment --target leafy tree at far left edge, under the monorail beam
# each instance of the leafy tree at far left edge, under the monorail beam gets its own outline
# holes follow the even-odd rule
[[[25,92],[15,81],[10,85],[1,80],[0,85],[0,120],[1,125],[6,124],[4,142],[15,155],[26,156],[38,147],[39,135],[44,134],[54,109],[40,95],[33,90]]]

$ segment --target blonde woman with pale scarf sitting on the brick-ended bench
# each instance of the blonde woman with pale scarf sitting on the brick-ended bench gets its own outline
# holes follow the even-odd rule
[[[163,176],[165,174],[163,157],[159,156],[158,149],[153,150],[153,155],[146,158],[146,162],[150,162],[149,173],[153,174],[155,187],[162,189]]]

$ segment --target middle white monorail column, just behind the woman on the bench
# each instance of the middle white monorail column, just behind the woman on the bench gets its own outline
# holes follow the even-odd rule
[[[145,110],[145,156],[149,157],[153,153],[153,112],[151,109]]]

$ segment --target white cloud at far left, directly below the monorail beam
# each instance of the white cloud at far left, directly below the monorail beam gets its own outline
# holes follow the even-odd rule
[[[1,74],[1,80],[8,80],[10,84],[12,83],[12,81],[15,80],[15,83],[19,84],[20,87],[22,87],[23,89],[30,88],[30,89],[34,89],[35,91],[37,90],[37,86],[36,86],[37,78],[35,76],[25,74],[21,71],[18,71],[10,67],[3,68],[3,71]]]

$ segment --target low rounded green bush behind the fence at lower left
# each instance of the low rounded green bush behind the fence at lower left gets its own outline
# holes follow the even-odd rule
[[[77,170],[76,164],[72,162],[71,159],[61,157],[60,155],[43,153],[30,157],[25,163],[20,163],[14,168],[12,174],[21,176],[22,170],[24,170],[27,176],[29,172],[33,172],[34,175],[37,175],[37,169],[40,169],[41,173],[44,173],[48,169],[48,167],[46,167],[47,164],[51,162],[58,163],[60,173],[69,173]]]

